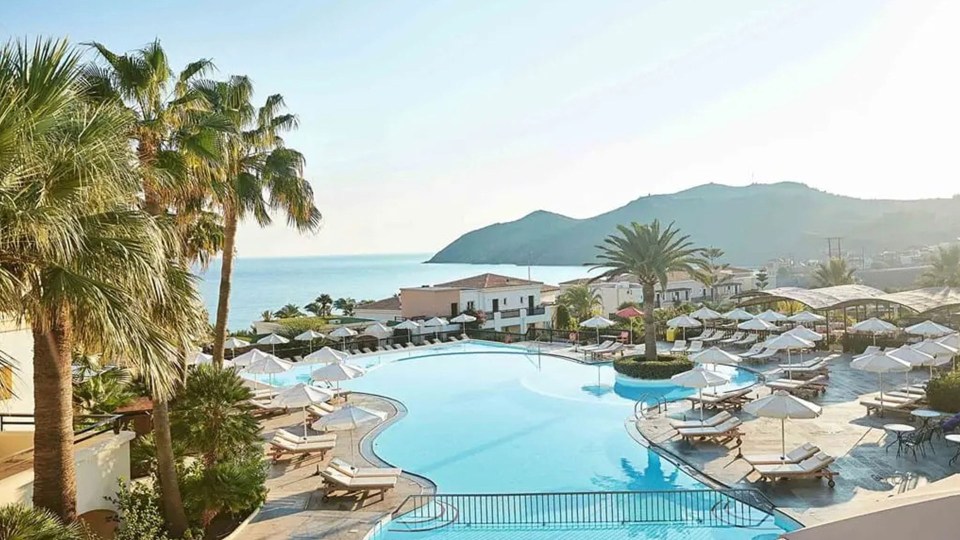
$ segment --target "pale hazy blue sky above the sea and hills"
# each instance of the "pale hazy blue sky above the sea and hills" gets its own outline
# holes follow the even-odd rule
[[[425,252],[704,182],[960,192],[951,0],[7,2],[0,34],[159,37],[299,114],[323,230],[241,256]]]

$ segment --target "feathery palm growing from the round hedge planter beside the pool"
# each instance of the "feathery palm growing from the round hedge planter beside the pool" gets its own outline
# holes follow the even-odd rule
[[[695,275],[706,266],[703,248],[694,247],[690,237],[680,234],[673,223],[666,229],[654,220],[649,225],[631,223],[619,225],[619,235],[612,234],[598,245],[600,254],[594,268],[606,270],[594,279],[630,276],[643,287],[643,331],[647,360],[657,359],[655,328],[655,288],[667,288],[670,272],[686,272]]]

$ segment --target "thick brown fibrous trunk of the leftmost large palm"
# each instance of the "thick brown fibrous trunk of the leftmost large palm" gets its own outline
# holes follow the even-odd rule
[[[49,314],[33,333],[33,504],[64,522],[77,518],[77,470],[73,455],[73,329],[66,313]]]

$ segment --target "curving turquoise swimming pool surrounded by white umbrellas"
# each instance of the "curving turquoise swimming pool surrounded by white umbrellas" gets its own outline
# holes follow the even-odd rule
[[[430,478],[438,493],[595,492],[703,489],[705,486],[634,441],[624,422],[643,396],[678,398],[690,390],[664,383],[624,384],[611,366],[581,365],[516,347],[448,344],[352,358],[367,374],[344,387],[402,402],[407,415],[373,442],[384,460]],[[308,381],[316,365],[277,376],[284,385]],[[733,386],[748,372],[720,367]],[[667,538],[677,525],[603,527],[597,538]],[[744,539],[783,529],[705,527],[684,538]],[[558,538],[532,529],[504,538]],[[553,531],[557,533],[557,531]],[[581,531],[582,532],[582,531]],[[689,531],[688,531],[689,532]],[[392,538],[389,530],[382,538]],[[478,535],[452,528],[395,533],[403,538]]]

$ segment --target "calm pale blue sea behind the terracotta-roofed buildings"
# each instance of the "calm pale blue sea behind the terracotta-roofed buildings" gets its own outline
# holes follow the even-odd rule
[[[227,326],[243,330],[264,310],[285,304],[298,307],[323,293],[334,299],[379,300],[401,287],[433,285],[485,272],[556,285],[590,275],[586,266],[516,266],[512,264],[428,264],[427,253],[327,257],[244,258],[233,267]],[[200,272],[200,291],[211,321],[216,317],[220,259]]]

